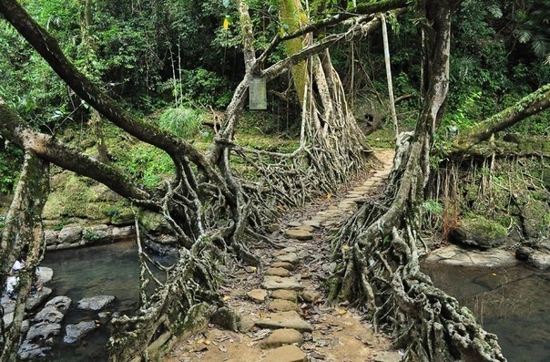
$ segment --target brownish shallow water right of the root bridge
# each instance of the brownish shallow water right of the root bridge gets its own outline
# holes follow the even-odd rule
[[[550,361],[549,272],[523,264],[494,269],[426,264],[423,270],[499,337],[508,361]]]

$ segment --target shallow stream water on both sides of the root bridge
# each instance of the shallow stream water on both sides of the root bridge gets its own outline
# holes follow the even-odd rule
[[[97,319],[97,314],[76,309],[83,297],[116,295],[115,305],[107,309],[110,312],[131,314],[138,308],[135,243],[48,252],[42,264],[54,269],[54,278],[47,284],[54,290],[52,297],[67,295],[73,300],[64,330],[67,324]],[[499,336],[508,361],[550,361],[550,273],[524,264],[497,269],[423,264],[423,270],[435,285],[468,306],[487,331]],[[100,326],[76,346],[56,346],[48,360],[107,360],[107,339],[107,326]]]

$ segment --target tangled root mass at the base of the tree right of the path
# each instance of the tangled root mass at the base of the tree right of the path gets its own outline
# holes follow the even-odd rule
[[[420,270],[426,247],[412,205],[423,186],[422,148],[422,138],[403,140],[381,200],[365,202],[337,235],[342,266],[331,300],[359,301],[376,328],[392,326],[407,361],[505,361],[496,336]]]

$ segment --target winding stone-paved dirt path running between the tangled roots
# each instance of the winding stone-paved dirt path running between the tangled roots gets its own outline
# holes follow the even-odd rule
[[[288,246],[260,251],[261,270],[245,267],[223,290],[241,316],[239,333],[210,326],[181,340],[166,361],[400,361],[386,336],[375,335],[348,305],[323,305],[323,280],[334,271],[327,233],[356,210],[357,202],[380,191],[392,164],[382,167],[341,198],[327,197],[321,211],[286,222],[279,232]],[[322,243],[325,240],[325,243]],[[259,251],[256,251],[257,253]]]

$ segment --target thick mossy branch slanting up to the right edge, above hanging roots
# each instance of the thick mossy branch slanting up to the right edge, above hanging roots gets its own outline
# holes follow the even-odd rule
[[[535,92],[515,103],[514,106],[508,107],[471,129],[465,130],[453,141],[448,156],[456,157],[463,154],[474,145],[489,140],[494,133],[514,126],[520,120],[548,108],[550,108],[550,84],[538,88]]]

